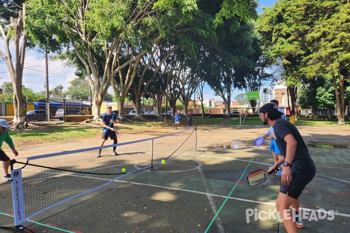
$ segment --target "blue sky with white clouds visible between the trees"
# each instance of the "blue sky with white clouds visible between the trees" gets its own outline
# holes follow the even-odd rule
[[[257,8],[258,13],[263,13],[261,6],[273,5],[273,0],[260,0],[260,6]],[[0,49],[4,51],[3,41],[0,39]],[[14,58],[12,58],[14,60]],[[65,67],[62,61],[49,61],[49,89],[53,89],[57,85],[62,85],[64,90],[70,86],[70,81],[75,78],[75,68]],[[7,72],[5,61],[0,58],[0,85],[3,82],[10,82],[10,76]],[[33,89],[34,92],[45,90],[45,60],[44,54],[36,50],[27,50],[25,59],[25,70],[23,72],[23,85]],[[243,91],[235,90],[232,99]],[[113,93],[113,90],[111,90]],[[204,88],[204,99],[222,100],[215,96],[210,87]]]

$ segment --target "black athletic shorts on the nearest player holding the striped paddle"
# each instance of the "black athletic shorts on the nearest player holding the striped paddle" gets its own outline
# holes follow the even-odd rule
[[[315,177],[316,167],[314,161],[305,166],[303,169],[290,169],[292,173],[292,182],[282,184],[280,192],[287,194],[289,197],[298,199],[306,185]]]

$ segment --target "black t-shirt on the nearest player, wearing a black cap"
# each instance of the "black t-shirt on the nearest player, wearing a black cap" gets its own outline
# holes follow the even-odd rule
[[[293,168],[304,169],[313,164],[313,160],[309,155],[309,150],[305,145],[303,138],[292,123],[284,119],[277,119],[273,125],[273,130],[276,136],[276,144],[284,158],[286,158],[287,143],[285,140],[283,140],[283,137],[285,137],[287,134],[292,134],[296,140],[296,150],[292,161]]]

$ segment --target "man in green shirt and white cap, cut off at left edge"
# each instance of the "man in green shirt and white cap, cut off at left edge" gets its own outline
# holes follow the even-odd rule
[[[10,158],[1,149],[2,143],[5,141],[9,145],[9,147],[11,148],[15,156],[18,155],[18,152],[16,151],[15,146],[13,145],[13,141],[10,138],[10,135],[8,134],[8,131],[7,131],[8,127],[10,127],[10,125],[7,124],[7,121],[5,119],[0,119],[0,160],[2,161],[2,168],[3,168],[2,179],[5,179],[5,180],[11,179],[11,175],[8,174],[8,168],[10,166]]]

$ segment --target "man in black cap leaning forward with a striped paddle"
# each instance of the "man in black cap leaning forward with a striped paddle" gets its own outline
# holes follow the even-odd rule
[[[314,178],[316,167],[299,131],[292,123],[281,119],[282,114],[274,104],[268,103],[261,107],[259,117],[264,125],[273,127],[276,144],[282,154],[268,171],[276,170],[282,163],[284,165],[281,174],[283,184],[276,200],[276,208],[287,232],[291,233],[297,232],[297,227],[304,227],[299,214],[298,198]],[[294,218],[290,217],[290,207]]]

